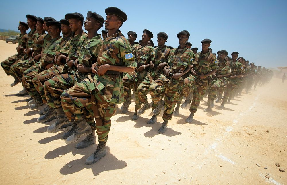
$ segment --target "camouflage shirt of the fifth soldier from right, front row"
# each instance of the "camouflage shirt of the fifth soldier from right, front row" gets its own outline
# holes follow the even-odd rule
[[[46,65],[53,63],[57,48],[61,40],[62,40],[62,37],[59,36],[57,38],[52,38],[47,43],[46,48],[43,52],[43,55],[40,59],[40,66],[42,66],[42,69],[44,69]]]

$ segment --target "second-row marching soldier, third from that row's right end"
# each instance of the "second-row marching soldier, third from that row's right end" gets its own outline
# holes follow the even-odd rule
[[[152,51],[153,47],[148,46],[148,41],[153,38],[152,32],[150,32],[147,29],[144,29],[143,35],[142,35],[142,45],[138,48],[137,54],[136,54],[136,62],[137,62],[137,70],[135,72],[135,75],[132,75],[132,73],[128,73],[123,77],[123,83],[124,83],[124,104],[121,107],[120,111],[127,112],[129,105],[131,104],[129,90],[135,89],[135,113],[132,120],[137,120],[139,118],[139,115],[137,115],[137,111],[141,108],[141,103],[139,102],[138,94],[137,94],[137,88],[139,84],[146,78],[148,68],[150,66],[150,61],[152,60]],[[148,104],[149,105],[149,104]]]

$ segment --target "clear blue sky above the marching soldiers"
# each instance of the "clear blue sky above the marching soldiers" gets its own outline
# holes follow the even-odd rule
[[[39,3],[40,2],[40,3]],[[48,2],[48,3],[46,3]],[[66,13],[88,11],[104,18],[105,8],[122,9],[128,20],[121,27],[125,36],[129,30],[141,40],[142,31],[154,34],[166,32],[166,45],[177,47],[177,33],[190,32],[192,47],[201,50],[201,40],[212,40],[213,52],[227,50],[263,67],[287,66],[287,1],[4,1],[1,3],[0,28],[17,30],[18,21],[26,21],[26,14],[37,17],[64,18]],[[77,3],[81,2],[81,3]],[[85,2],[85,3],[82,3]],[[5,7],[5,8],[4,8]],[[104,27],[102,28],[104,29]]]

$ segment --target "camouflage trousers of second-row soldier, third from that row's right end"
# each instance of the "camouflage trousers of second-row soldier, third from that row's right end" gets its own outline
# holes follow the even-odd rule
[[[128,73],[123,77],[124,84],[124,102],[129,101],[131,97],[131,89],[134,88],[135,92],[135,112],[137,112],[141,108],[141,102],[139,101],[137,88],[141,84],[142,81],[146,78],[147,70],[143,70],[141,72]]]

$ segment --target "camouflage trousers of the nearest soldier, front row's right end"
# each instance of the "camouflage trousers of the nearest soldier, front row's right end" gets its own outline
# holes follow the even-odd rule
[[[99,141],[107,141],[110,119],[116,112],[116,105],[104,100],[97,89],[90,91],[91,83],[94,83],[94,80],[89,75],[77,85],[65,90],[61,94],[62,107],[70,121],[82,120],[93,112],[96,125],[90,126],[92,129],[96,128]]]

